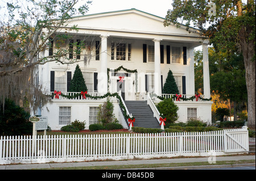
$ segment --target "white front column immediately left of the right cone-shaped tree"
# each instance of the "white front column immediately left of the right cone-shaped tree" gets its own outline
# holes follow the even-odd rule
[[[161,67],[160,67],[160,41],[161,40],[153,40],[155,42],[155,94],[161,96],[162,95],[162,87],[161,87]]]

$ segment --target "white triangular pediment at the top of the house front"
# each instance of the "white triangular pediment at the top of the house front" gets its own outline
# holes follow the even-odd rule
[[[90,30],[200,36],[200,32],[196,29],[189,33],[182,26],[177,28],[171,24],[168,27],[164,27],[163,22],[164,18],[159,16],[130,9],[78,16],[72,19],[69,26],[77,25],[77,28]]]

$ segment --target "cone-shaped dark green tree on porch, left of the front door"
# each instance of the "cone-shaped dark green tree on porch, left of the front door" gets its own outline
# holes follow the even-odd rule
[[[69,92],[81,92],[81,91],[84,91],[84,92],[87,91],[87,87],[85,85],[82,71],[79,65],[76,65],[76,70],[70,82]]]

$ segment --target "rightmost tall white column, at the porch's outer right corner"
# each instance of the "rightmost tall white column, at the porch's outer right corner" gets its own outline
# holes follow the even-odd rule
[[[203,74],[204,74],[204,96],[210,98],[210,74],[208,60],[208,40],[203,43]]]

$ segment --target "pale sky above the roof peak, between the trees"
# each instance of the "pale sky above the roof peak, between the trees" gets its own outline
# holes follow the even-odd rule
[[[92,0],[87,14],[135,8],[165,18],[172,0]]]

